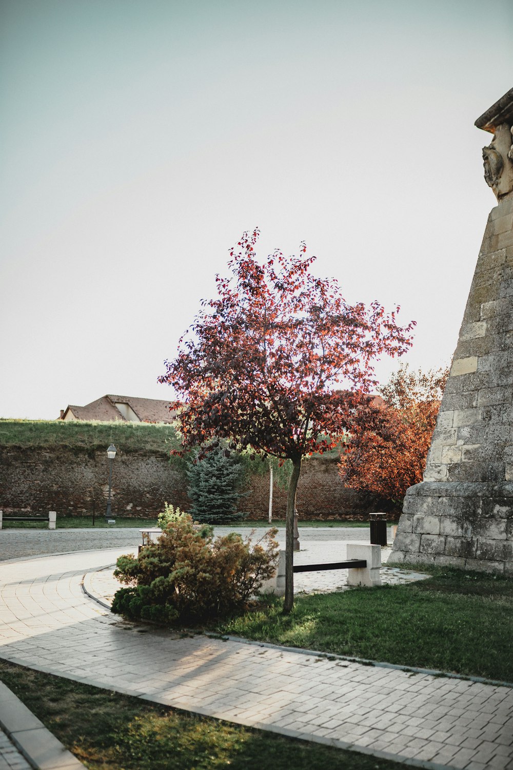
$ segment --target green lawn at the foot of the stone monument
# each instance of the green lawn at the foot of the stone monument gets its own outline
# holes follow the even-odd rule
[[[427,569],[425,571],[428,571]],[[218,628],[257,641],[513,682],[513,581],[435,569],[425,581],[261,601]]]

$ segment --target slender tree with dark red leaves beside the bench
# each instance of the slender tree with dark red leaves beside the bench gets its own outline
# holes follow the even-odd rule
[[[182,451],[219,439],[291,460],[284,611],[294,602],[293,532],[301,459],[336,446],[375,387],[373,362],[401,355],[413,326],[377,302],[349,305],[335,280],[311,273],[314,256],[255,258],[258,230],[230,250],[232,276],[216,277],[178,356],[159,378],[184,401]],[[329,438],[328,438],[329,437]],[[213,442],[213,444],[212,444]]]

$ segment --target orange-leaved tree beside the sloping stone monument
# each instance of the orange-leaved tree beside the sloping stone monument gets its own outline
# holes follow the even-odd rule
[[[422,480],[447,377],[448,370],[402,365],[381,398],[360,408],[338,466],[347,487],[401,507],[408,487]]]

